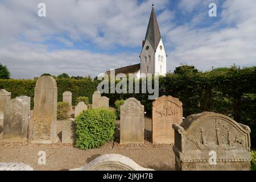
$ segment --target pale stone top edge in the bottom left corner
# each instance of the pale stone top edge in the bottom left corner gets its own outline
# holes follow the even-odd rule
[[[0,171],[34,171],[34,169],[23,163],[0,163]]]

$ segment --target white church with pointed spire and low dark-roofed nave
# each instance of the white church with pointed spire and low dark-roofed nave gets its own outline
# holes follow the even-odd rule
[[[141,63],[114,69],[115,75],[118,73],[124,73],[126,75],[133,73],[137,75],[138,78],[141,77],[142,73],[166,75],[166,49],[164,48],[162,36],[160,34],[154,5],[151,10],[146,36],[142,41],[142,51],[139,57],[141,58]],[[110,71],[106,73],[109,75]]]

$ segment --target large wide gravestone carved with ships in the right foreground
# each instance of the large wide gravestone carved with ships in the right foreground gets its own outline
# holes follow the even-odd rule
[[[250,128],[222,114],[189,115],[175,129],[175,168],[250,170]]]

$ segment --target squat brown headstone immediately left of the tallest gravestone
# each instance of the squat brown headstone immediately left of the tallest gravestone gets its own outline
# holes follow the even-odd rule
[[[3,139],[10,142],[26,142],[28,131],[27,102],[15,98],[5,106]]]

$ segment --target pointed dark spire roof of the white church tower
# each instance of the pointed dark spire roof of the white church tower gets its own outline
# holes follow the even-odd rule
[[[158,20],[156,20],[155,10],[153,6],[151,10],[150,20],[147,26],[145,41],[148,40],[148,42],[151,44],[154,50],[156,50],[161,38],[162,37],[158,27]]]

